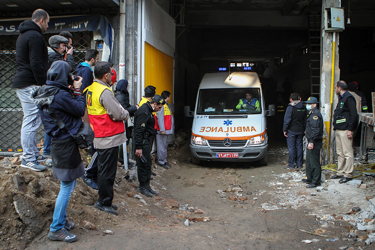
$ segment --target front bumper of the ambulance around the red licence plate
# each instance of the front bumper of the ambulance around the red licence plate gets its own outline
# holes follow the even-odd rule
[[[268,144],[245,148],[210,148],[190,144],[192,156],[199,160],[220,161],[220,162],[253,162],[266,157]],[[219,158],[217,154],[238,153],[238,158]],[[232,155],[232,154],[231,154]]]

